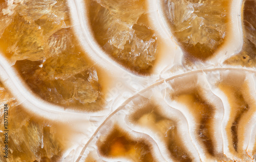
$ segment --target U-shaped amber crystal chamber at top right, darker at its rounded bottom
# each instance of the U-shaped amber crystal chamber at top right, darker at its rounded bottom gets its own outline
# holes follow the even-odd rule
[[[230,1],[163,0],[165,19],[189,59],[205,61],[224,42]]]

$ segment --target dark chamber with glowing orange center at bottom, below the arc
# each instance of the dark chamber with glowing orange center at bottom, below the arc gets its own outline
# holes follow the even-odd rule
[[[99,153],[108,158],[127,158],[133,161],[156,161],[152,147],[143,138],[135,140],[129,133],[115,125],[111,132],[97,142]]]

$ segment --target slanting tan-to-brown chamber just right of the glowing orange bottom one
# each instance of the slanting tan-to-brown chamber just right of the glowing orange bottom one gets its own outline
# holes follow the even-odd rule
[[[142,104],[145,102],[144,104]],[[153,132],[161,134],[160,141],[165,143],[165,147],[170,153],[170,157],[177,161],[192,161],[191,155],[185,148],[185,144],[182,142],[181,136],[178,132],[177,123],[164,116],[163,110],[152,103],[151,101],[145,101],[141,99],[141,107],[136,107],[135,112],[129,115],[129,119],[132,123],[151,129]]]

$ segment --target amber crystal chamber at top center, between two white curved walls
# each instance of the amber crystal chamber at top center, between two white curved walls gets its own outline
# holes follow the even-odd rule
[[[157,53],[157,38],[146,22],[143,1],[91,1],[90,21],[101,47],[136,73],[148,73]],[[139,5],[141,5],[139,7]],[[143,21],[141,23],[139,21]]]

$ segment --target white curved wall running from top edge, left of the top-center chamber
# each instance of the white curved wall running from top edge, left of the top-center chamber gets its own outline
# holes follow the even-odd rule
[[[98,65],[105,68],[107,71],[112,72],[113,75],[128,73],[132,76],[137,76],[114,61],[100,48],[93,38],[89,18],[86,16],[88,7],[84,1],[71,0],[68,1],[68,5],[76,36],[80,41],[83,50],[87,52],[87,55]]]

